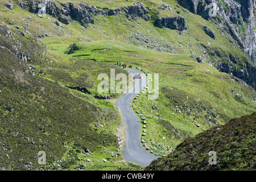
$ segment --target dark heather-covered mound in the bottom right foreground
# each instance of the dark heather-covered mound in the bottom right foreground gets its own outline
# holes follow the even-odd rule
[[[174,152],[154,160],[146,170],[255,170],[256,113],[231,119],[181,142]],[[217,164],[209,164],[215,151]]]

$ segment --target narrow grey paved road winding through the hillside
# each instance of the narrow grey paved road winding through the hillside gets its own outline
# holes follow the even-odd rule
[[[130,73],[141,73],[135,69],[125,68]],[[135,84],[129,89],[129,92],[125,93],[122,97],[118,98],[116,105],[122,115],[125,122],[126,129],[126,144],[123,151],[125,160],[148,166],[152,160],[158,157],[150,154],[141,144],[141,122],[135,115],[131,108],[131,102],[133,98],[139,93],[139,91],[146,86],[147,78],[142,74],[141,79],[135,79]]]

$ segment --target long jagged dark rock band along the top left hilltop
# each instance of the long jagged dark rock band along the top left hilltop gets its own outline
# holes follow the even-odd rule
[[[39,3],[40,1],[32,1],[30,5],[26,2],[18,2],[18,5],[22,7],[22,9],[26,9],[29,7],[29,11],[31,13],[38,13],[39,11]],[[46,14],[51,15],[61,23],[69,24],[72,19],[75,19],[81,23],[85,28],[88,27],[88,24],[94,23],[94,16],[103,15],[103,16],[113,16],[118,15],[123,11],[127,18],[129,19],[137,19],[142,18],[146,21],[150,20],[150,14],[148,10],[142,5],[141,2],[135,2],[133,6],[121,7],[118,9],[105,9],[109,11],[104,11],[98,9],[96,6],[90,6],[81,3],[61,3],[62,7],[56,5],[55,2],[48,1],[46,3]]]

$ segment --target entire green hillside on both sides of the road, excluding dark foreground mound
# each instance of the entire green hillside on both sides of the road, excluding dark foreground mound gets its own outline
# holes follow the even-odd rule
[[[75,18],[69,24],[51,13],[39,18],[30,12],[34,1],[24,9],[18,6],[22,1],[13,1],[13,10],[5,6],[8,2],[0,3],[1,169],[139,169],[122,160],[124,126],[114,106],[119,94],[97,92],[100,73],[110,76],[115,69],[115,75],[127,75],[114,65],[117,61],[159,73],[159,88],[154,88],[159,98],[138,94],[132,103],[146,117],[141,140],[154,154],[167,155],[185,138],[256,109],[249,82],[229,75],[246,71],[250,57],[225,28],[187,13],[177,1],[164,1],[171,11],[163,2],[143,0],[151,9],[150,20],[123,12],[89,13],[94,21],[86,28]],[[52,2],[61,9],[66,1]],[[136,1],[84,2],[108,13]],[[184,18],[187,30],[156,27],[158,18],[168,16]],[[244,34],[246,23],[239,22]],[[205,26],[216,39],[205,34]],[[46,166],[37,163],[39,151],[46,151]]]

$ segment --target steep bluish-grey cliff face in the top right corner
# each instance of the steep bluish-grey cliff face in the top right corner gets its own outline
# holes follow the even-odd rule
[[[255,0],[179,0],[181,6],[194,14],[202,16],[204,19],[216,19],[211,16],[211,3],[216,5],[216,14],[220,17],[217,22],[225,27],[226,32],[232,36],[234,43],[248,53],[256,65],[256,41],[253,27],[256,25],[254,18]],[[232,22],[232,23],[230,23]],[[241,34],[239,27],[245,27],[247,31]]]

